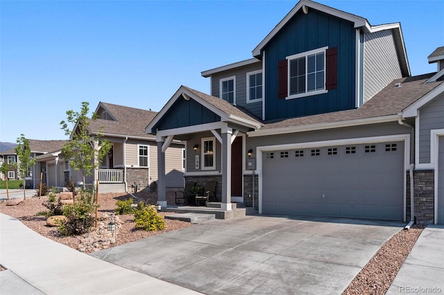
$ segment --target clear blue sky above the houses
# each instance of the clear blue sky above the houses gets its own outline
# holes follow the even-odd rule
[[[66,139],[66,111],[100,101],[160,111],[201,71],[247,60],[298,1],[0,1],[0,141]],[[412,75],[436,71],[442,0],[318,0],[400,22]]]

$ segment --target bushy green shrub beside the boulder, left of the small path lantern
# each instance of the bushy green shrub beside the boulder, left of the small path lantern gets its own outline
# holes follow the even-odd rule
[[[63,221],[58,230],[62,235],[83,235],[91,230],[96,218],[93,213],[96,209],[91,192],[79,194],[74,205],[63,206],[63,215],[67,220]]]

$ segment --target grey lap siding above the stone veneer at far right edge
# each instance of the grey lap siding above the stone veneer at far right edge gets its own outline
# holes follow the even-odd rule
[[[444,94],[420,109],[419,163],[430,163],[430,130],[444,128]]]

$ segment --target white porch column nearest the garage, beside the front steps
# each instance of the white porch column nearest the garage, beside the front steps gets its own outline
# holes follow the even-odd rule
[[[222,134],[222,210],[231,210],[231,134],[228,127],[221,129]]]

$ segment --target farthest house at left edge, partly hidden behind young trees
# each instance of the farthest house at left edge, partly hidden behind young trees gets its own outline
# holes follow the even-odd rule
[[[31,157],[39,157],[40,155],[47,154],[53,150],[61,149],[62,146],[66,143],[66,141],[41,141],[38,139],[28,139],[29,147],[31,149]],[[3,159],[9,165],[8,171],[8,179],[20,179],[20,175],[18,175],[17,170],[13,163],[17,163],[18,157],[15,152],[15,148],[11,150],[7,150],[2,152]],[[29,169],[28,174],[26,175],[26,188],[37,188],[40,184],[40,175],[43,175],[42,182],[45,182],[45,166],[42,166],[42,163],[36,163],[32,168]]]

